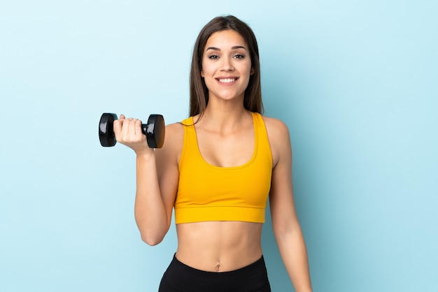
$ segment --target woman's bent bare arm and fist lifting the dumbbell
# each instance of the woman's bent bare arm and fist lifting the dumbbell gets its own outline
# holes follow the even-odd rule
[[[134,214],[141,239],[150,245],[159,244],[169,231],[178,189],[182,125],[166,126],[164,145],[155,151],[148,147],[138,119],[125,119],[121,115],[120,119],[114,121],[114,133],[119,143],[136,153]]]

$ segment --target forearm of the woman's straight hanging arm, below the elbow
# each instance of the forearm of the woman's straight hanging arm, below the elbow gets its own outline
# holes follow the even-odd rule
[[[306,243],[301,229],[276,233],[276,242],[281,258],[297,292],[312,291]]]

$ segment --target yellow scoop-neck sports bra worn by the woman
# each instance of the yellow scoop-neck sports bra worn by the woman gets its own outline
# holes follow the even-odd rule
[[[183,120],[175,223],[199,221],[264,222],[271,188],[272,154],[262,115],[252,112],[253,156],[247,163],[218,167],[206,162],[197,143],[193,117]]]

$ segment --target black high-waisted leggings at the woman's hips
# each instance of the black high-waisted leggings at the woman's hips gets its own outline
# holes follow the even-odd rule
[[[191,268],[174,256],[161,279],[158,292],[271,292],[263,256],[231,272],[206,272]]]

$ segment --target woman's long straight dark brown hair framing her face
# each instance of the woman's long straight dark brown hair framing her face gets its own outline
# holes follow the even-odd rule
[[[240,34],[248,45],[250,52],[251,66],[254,68],[253,75],[250,75],[248,87],[245,90],[243,106],[250,112],[262,113],[262,86],[260,85],[260,60],[257,40],[253,30],[248,24],[242,22],[233,15],[215,17],[199,32],[192,55],[192,66],[190,69],[190,116],[202,114],[209,103],[209,89],[201,77],[202,57],[205,45],[212,34],[218,31],[232,29]]]

